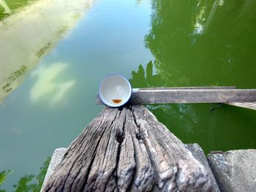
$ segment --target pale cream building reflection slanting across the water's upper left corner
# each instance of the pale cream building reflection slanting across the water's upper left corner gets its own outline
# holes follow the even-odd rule
[[[42,56],[56,47],[59,39],[75,27],[94,1],[40,0],[30,1],[30,4],[26,1],[16,3],[20,3],[20,9],[0,20],[0,104],[18,88]],[[0,7],[4,7],[5,12],[11,11],[4,0],[0,1]],[[70,86],[63,85],[66,89]],[[57,100],[61,94],[56,97]]]

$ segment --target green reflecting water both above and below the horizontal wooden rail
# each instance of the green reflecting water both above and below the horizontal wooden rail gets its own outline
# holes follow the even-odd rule
[[[140,66],[139,87],[236,85],[255,88],[256,3],[245,1],[154,0],[146,47],[154,55],[159,82],[149,83]],[[206,153],[256,147],[256,113],[214,104],[148,105],[184,142]]]

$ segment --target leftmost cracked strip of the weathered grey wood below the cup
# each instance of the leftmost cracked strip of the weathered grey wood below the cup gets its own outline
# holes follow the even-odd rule
[[[42,191],[83,191],[99,150],[99,141],[115,120],[117,111],[105,108],[68,147],[61,163]],[[110,118],[112,117],[112,118]]]

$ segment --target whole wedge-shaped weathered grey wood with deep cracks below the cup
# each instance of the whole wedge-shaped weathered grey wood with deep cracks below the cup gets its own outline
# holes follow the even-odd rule
[[[42,191],[212,191],[206,168],[143,106],[106,107]]]

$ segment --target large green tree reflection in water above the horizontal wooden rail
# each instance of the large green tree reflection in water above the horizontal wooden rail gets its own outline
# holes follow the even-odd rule
[[[145,42],[165,83],[254,88],[255,10],[251,0],[154,0]]]

